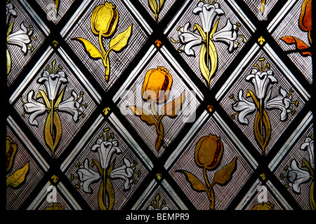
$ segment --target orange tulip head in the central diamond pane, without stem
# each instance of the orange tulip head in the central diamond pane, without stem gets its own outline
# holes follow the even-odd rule
[[[171,84],[172,76],[164,67],[158,66],[157,69],[150,69],[147,71],[143,83],[143,99],[166,102]]]

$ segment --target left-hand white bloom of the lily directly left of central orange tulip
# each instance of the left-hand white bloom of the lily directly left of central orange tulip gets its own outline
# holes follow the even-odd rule
[[[46,106],[45,104],[37,102],[35,99],[33,99],[33,95],[34,90],[29,91],[29,93],[27,94],[27,103],[23,104],[23,106],[27,113],[31,113],[31,115],[29,116],[29,123],[31,125],[38,126],[39,123],[35,118],[46,111]]]

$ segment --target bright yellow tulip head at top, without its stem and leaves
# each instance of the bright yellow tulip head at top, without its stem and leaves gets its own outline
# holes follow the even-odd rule
[[[119,12],[112,3],[105,2],[97,6],[91,16],[91,29],[94,34],[104,37],[111,36],[117,28]]]

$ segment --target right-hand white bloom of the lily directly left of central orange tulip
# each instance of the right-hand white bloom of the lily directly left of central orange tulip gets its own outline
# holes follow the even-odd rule
[[[83,107],[81,106],[81,102],[84,99],[83,97],[80,97],[78,99],[78,94],[72,90],[72,96],[66,99],[63,102],[60,102],[58,106],[59,111],[64,111],[67,113],[72,114],[72,119],[77,122],[79,118],[79,111],[83,111]]]

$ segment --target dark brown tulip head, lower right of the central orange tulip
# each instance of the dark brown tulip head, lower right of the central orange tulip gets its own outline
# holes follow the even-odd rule
[[[223,154],[223,144],[219,137],[209,134],[202,137],[195,147],[195,162],[199,167],[214,169],[220,164]]]

